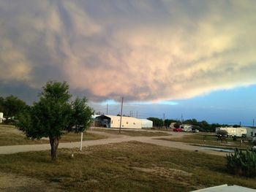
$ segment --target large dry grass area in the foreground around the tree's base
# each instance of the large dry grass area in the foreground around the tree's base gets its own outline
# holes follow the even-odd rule
[[[225,183],[256,188],[255,179],[227,174],[225,163],[217,155],[140,142],[62,149],[56,163],[49,151],[0,155],[1,172],[43,181],[53,191],[192,191]]]

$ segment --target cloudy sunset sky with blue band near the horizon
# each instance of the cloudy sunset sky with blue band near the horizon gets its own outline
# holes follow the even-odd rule
[[[0,0],[0,96],[67,81],[95,111],[256,119],[256,1]]]

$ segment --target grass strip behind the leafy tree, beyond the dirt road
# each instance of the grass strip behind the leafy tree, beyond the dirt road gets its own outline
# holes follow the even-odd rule
[[[103,139],[105,136],[99,134],[83,134],[83,140]],[[61,137],[60,142],[79,142],[80,134],[69,133]],[[0,146],[4,145],[30,145],[49,143],[47,139],[30,140],[15,126],[0,125]]]

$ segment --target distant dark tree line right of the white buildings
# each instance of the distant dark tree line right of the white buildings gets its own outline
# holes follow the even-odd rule
[[[169,128],[170,123],[175,123],[174,127],[178,128],[183,123],[183,124],[192,125],[193,128],[197,128],[199,131],[214,132],[215,128],[217,127],[228,126],[227,124],[219,124],[219,123],[210,124],[206,120],[197,121],[196,119],[184,120],[182,123],[181,123],[181,120],[173,120],[173,119],[166,119],[165,122],[164,120],[159,118],[147,118],[147,119],[152,120],[153,126],[157,128],[163,127],[163,126],[165,128]]]

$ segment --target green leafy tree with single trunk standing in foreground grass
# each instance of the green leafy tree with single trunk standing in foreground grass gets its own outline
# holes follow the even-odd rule
[[[31,110],[20,115],[17,126],[31,139],[49,137],[51,159],[56,161],[61,136],[89,128],[93,110],[87,106],[85,98],[69,101],[67,82],[47,82],[39,96]]]

